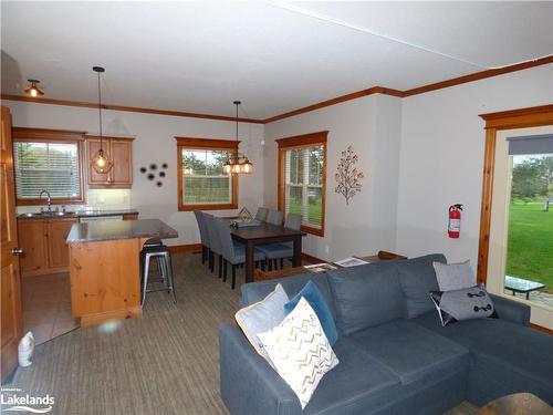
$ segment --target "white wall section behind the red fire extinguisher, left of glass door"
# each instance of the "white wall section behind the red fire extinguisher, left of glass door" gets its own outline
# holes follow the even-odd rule
[[[396,249],[478,262],[484,122],[478,114],[553,102],[553,64],[403,100]],[[448,207],[465,205],[459,239]]]

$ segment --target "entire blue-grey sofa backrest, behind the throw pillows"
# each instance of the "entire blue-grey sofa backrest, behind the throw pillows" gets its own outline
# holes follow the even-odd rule
[[[340,334],[348,335],[434,310],[428,293],[438,290],[434,261],[446,262],[446,258],[434,253],[247,283],[240,307],[263,300],[278,283],[292,298],[311,280],[326,300]]]

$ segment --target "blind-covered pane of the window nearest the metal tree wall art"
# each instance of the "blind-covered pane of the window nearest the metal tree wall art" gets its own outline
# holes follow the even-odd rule
[[[301,215],[302,224],[315,229],[323,221],[323,173],[324,145],[285,151],[285,212]]]

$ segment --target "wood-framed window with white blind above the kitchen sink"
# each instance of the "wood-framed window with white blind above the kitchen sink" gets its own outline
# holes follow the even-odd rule
[[[36,128],[13,128],[13,163],[18,205],[84,201],[81,151],[83,134]],[[44,197],[44,196],[43,196]]]

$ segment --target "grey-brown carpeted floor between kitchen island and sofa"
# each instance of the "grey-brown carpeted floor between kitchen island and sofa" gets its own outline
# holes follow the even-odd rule
[[[50,414],[227,414],[219,396],[218,326],[233,321],[239,289],[174,255],[177,304],[148,295],[144,318],[113,331],[77,329],[39,345],[11,385],[55,398]],[[230,273],[230,272],[229,272]],[[238,272],[238,287],[243,273]],[[448,415],[473,415],[465,403]],[[262,414],[260,414],[262,415]]]

